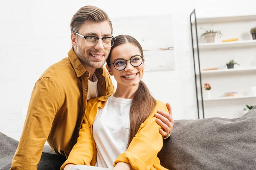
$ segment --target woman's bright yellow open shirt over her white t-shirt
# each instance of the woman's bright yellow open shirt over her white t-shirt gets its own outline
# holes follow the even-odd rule
[[[73,147],[67,161],[61,166],[64,169],[66,164],[83,164],[95,166],[97,161],[96,144],[93,139],[93,122],[96,118],[98,108],[103,108],[109,96],[102,96],[87,101],[85,118],[79,131],[76,145]],[[134,170],[166,170],[160,165],[157,153],[163,147],[163,137],[159,133],[160,125],[156,122],[154,114],[157,110],[168,112],[163,102],[157,101],[157,105],[150,116],[140,125],[137,134],[131,141],[127,150],[120,154],[113,166],[118,162],[131,164]],[[111,114],[111,113],[110,113]]]

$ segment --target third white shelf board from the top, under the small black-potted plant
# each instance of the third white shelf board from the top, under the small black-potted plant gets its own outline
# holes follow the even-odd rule
[[[250,71],[255,71],[255,73],[256,73],[256,67],[253,67],[253,68],[230,68],[230,69],[219,69],[219,70],[207,70],[207,71],[201,71],[201,75],[221,74],[221,73],[236,73],[236,72],[250,72]],[[196,75],[199,75],[199,73],[197,73]]]

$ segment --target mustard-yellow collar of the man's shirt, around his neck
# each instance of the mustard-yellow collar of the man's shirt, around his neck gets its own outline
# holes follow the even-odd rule
[[[68,51],[67,55],[68,55],[68,58],[70,59],[70,62],[72,64],[75,72],[76,72],[76,76],[81,77],[87,70],[84,68],[81,61],[76,56],[76,53],[74,52],[73,48],[71,48],[70,51]],[[103,74],[103,68],[97,68],[95,71],[96,76],[97,76],[97,73]]]

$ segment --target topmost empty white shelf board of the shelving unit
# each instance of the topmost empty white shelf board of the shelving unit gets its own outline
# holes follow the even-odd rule
[[[250,21],[250,20],[256,20],[256,15],[242,15],[242,16],[230,16],[230,17],[198,17],[196,19],[196,22],[199,24],[199,23],[224,23],[224,22]],[[195,24],[195,20],[192,21],[192,24]]]

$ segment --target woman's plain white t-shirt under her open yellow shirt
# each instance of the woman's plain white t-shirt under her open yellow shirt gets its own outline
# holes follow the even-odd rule
[[[93,138],[97,148],[98,167],[113,168],[116,158],[126,151],[130,131],[132,99],[108,98],[93,122]]]

